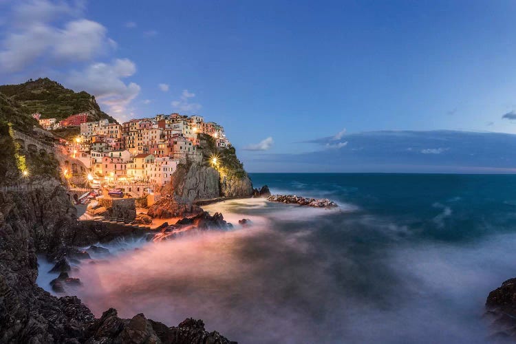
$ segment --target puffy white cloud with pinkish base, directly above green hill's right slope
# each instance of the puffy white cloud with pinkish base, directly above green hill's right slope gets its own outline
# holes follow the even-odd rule
[[[111,63],[94,63],[81,72],[72,72],[67,84],[75,89],[85,89],[96,96],[98,102],[109,107],[109,113],[125,118],[131,100],[140,93],[136,83],[124,83],[136,73],[136,65],[127,58],[117,58]]]

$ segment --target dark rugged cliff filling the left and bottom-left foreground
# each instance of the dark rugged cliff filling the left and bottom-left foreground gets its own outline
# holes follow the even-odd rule
[[[116,235],[105,224],[78,222],[61,186],[1,191],[0,343],[232,343],[193,319],[169,327],[143,314],[120,319],[113,309],[95,319],[77,297],[54,297],[36,285],[36,254],[56,259]]]

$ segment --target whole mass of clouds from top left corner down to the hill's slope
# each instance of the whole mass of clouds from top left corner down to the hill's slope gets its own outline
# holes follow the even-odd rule
[[[123,79],[136,73],[116,58],[104,25],[85,19],[82,1],[20,1],[6,11],[0,41],[0,77],[12,83],[50,76],[93,94],[107,112],[125,119],[140,86]],[[100,60],[100,61],[99,61]]]

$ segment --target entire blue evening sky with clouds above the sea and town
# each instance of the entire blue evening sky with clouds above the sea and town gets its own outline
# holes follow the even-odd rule
[[[248,171],[507,173],[515,14],[515,1],[0,0],[0,83],[48,76],[120,122],[204,116]]]

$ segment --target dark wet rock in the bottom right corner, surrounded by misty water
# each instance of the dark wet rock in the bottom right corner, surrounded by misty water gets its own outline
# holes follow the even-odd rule
[[[489,293],[486,318],[491,321],[493,339],[516,341],[516,278],[508,279]]]

